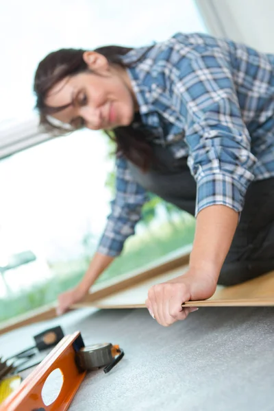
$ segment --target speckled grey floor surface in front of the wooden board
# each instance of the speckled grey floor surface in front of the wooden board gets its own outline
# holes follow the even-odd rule
[[[58,324],[123,347],[109,374],[86,375],[71,411],[274,411],[273,320],[273,308],[200,308],[164,328],[147,310],[84,309],[0,336],[0,353]]]

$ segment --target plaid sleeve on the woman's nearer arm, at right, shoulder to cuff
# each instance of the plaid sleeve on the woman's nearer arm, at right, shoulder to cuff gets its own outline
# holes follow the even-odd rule
[[[229,60],[216,49],[182,62],[173,104],[186,122],[188,166],[197,182],[197,215],[222,204],[242,210],[256,158],[242,120]]]

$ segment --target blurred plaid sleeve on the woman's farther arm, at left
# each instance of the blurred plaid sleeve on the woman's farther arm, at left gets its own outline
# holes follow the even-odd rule
[[[116,196],[111,202],[111,213],[99,242],[99,253],[113,257],[121,254],[125,240],[135,232],[145,201],[147,193],[134,181],[127,160],[117,158]]]

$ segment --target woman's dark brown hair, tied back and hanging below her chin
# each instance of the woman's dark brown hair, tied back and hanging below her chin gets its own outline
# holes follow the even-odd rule
[[[132,49],[120,46],[106,46],[95,49],[97,53],[101,53],[108,59],[110,64],[119,64],[122,67],[134,65],[134,63],[126,65],[121,58]],[[36,70],[34,77],[34,93],[36,95],[36,109],[40,114],[40,125],[44,127],[46,132],[52,135],[60,136],[69,134],[73,129],[68,129],[62,123],[51,123],[49,116],[64,110],[68,105],[63,105],[58,108],[53,108],[45,104],[47,94],[55,84],[58,84],[65,77],[77,75],[88,71],[88,66],[84,62],[83,49],[60,49],[49,53],[42,60]],[[142,58],[142,56],[141,56]],[[138,123],[140,116],[136,115]],[[135,119],[136,120],[136,119]],[[110,138],[116,142],[116,153],[123,154],[125,157],[136,164],[144,171],[149,167],[152,161],[151,146],[149,144],[149,130],[145,127],[116,127],[112,132],[105,131]]]

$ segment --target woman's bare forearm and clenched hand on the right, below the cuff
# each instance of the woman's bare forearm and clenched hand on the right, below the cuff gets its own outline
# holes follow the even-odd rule
[[[214,294],[237,224],[238,212],[227,206],[208,206],[198,213],[188,272],[149,290],[146,305],[159,324],[186,319],[195,308],[182,308],[182,303]]]

